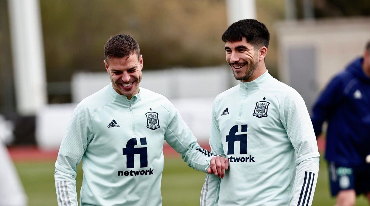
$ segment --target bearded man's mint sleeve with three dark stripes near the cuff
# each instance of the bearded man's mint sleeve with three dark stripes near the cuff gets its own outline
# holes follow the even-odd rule
[[[297,92],[283,102],[281,120],[296,153],[295,181],[289,205],[311,205],[319,172],[319,151],[305,102]]]

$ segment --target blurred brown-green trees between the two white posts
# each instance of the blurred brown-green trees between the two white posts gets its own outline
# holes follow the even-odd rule
[[[104,71],[110,36],[138,41],[144,68],[224,63],[226,27],[221,0],[40,0],[47,80],[70,81],[78,70]]]

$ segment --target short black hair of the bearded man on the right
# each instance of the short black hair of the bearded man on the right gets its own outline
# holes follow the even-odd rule
[[[255,19],[244,19],[229,26],[222,35],[222,41],[242,41],[245,37],[247,42],[253,46],[266,46],[270,43],[270,33],[265,24]]]

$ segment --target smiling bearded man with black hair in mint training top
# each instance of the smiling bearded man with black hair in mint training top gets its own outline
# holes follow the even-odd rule
[[[270,34],[247,19],[223,33],[226,61],[239,85],[219,94],[209,144],[227,154],[219,180],[206,175],[200,205],[312,205],[319,152],[299,93],[273,78],[265,56]]]

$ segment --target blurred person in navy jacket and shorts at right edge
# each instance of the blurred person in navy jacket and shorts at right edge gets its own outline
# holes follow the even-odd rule
[[[323,90],[311,120],[316,137],[328,123],[325,158],[336,206],[354,205],[361,194],[370,204],[370,41]]]

